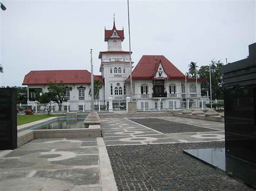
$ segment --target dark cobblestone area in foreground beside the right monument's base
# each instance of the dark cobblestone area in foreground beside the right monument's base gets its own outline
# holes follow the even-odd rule
[[[183,153],[224,142],[107,146],[118,190],[250,190],[224,172]]]

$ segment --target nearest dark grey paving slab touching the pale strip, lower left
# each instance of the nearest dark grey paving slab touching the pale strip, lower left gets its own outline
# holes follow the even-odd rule
[[[38,171],[34,177],[52,178],[72,182],[74,185],[92,185],[99,182],[98,168],[61,169],[56,171]]]

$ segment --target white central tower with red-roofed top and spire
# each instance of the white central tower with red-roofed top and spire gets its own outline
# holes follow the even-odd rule
[[[113,18],[112,30],[106,30],[104,41],[107,42],[107,51],[99,52],[101,60],[100,72],[104,79],[105,101],[109,97],[113,100],[125,100],[130,95],[130,86],[125,84],[125,80],[130,75],[129,51],[122,50],[124,40],[124,27],[117,30],[116,22]],[[133,63],[133,62],[132,62]]]

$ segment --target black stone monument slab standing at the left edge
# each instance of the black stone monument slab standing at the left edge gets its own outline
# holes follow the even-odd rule
[[[16,89],[0,88],[0,150],[17,148]]]

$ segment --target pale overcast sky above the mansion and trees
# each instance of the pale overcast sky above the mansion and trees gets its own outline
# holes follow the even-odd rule
[[[104,27],[124,26],[129,51],[127,1],[0,0],[0,86],[21,86],[30,70],[87,69],[93,49],[107,50]],[[132,60],[145,54],[166,56],[181,72],[191,61],[233,62],[246,58],[255,42],[256,1],[131,1]]]

